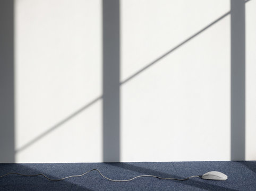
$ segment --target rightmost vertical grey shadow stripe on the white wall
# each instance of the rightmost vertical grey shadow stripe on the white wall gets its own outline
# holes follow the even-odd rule
[[[245,2],[231,0],[231,160],[245,160]]]

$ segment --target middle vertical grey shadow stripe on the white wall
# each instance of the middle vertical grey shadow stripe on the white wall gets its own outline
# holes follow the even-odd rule
[[[120,2],[103,0],[103,161],[120,161]]]

